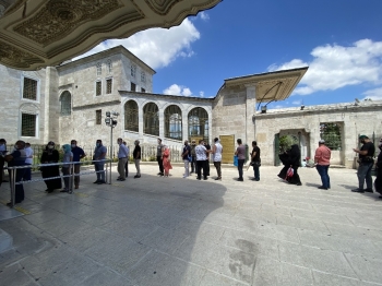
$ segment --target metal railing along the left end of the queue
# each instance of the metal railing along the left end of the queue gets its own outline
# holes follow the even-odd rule
[[[104,170],[94,170],[94,171],[80,171],[77,174],[74,172],[74,165],[83,165],[88,163],[105,163],[106,168]],[[49,166],[63,166],[63,165],[70,165],[70,175],[62,175],[62,176],[55,176],[49,178],[39,178],[39,179],[31,179],[31,180],[21,180],[16,182],[16,170],[17,169],[32,169],[32,168],[41,168],[41,167],[49,167]],[[39,164],[39,165],[23,165],[23,166],[13,166],[13,167],[4,167],[4,169],[8,169],[10,175],[10,186],[11,186],[11,207],[15,204],[15,187],[16,184],[24,184],[24,183],[32,183],[32,182],[38,182],[38,181],[47,181],[47,180],[53,180],[58,178],[70,178],[70,188],[69,193],[73,192],[73,184],[74,184],[74,177],[80,177],[84,175],[91,175],[91,174],[97,174],[97,172],[105,172],[105,181],[106,183],[111,183],[111,159],[100,159],[100,160],[91,160],[91,162],[70,162],[70,163],[50,163],[50,164]],[[108,179],[109,178],[109,179]]]

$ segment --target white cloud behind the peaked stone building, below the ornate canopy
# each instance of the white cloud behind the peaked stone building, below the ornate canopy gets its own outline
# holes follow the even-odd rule
[[[200,38],[200,33],[189,19],[169,29],[150,28],[126,39],[109,39],[80,57],[122,45],[153,69],[167,67],[179,57],[192,57],[191,43]]]

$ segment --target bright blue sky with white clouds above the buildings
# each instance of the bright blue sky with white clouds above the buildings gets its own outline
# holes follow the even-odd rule
[[[214,97],[225,79],[309,65],[270,108],[382,99],[381,0],[224,0],[170,29],[107,40],[157,73],[154,93]]]

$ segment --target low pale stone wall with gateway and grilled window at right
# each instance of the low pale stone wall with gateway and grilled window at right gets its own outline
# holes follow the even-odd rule
[[[306,138],[306,155],[314,156],[320,140],[320,123],[337,122],[342,128],[342,148],[333,151],[332,164],[355,168],[354,147],[358,147],[358,135],[367,134],[371,138],[382,133],[382,102],[362,102],[322,105],[288,109],[268,110],[266,114],[255,115],[256,138],[262,151],[262,162],[273,165],[275,159],[275,134],[301,132]],[[302,145],[303,152],[303,145]]]

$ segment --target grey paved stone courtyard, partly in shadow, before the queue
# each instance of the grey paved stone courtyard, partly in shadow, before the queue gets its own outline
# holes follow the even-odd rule
[[[278,170],[261,167],[255,182],[250,169],[238,182],[226,167],[215,181],[212,167],[199,181],[182,179],[181,166],[160,178],[143,165],[142,178],[114,174],[111,186],[82,177],[73,194],[27,184],[22,212],[0,204],[0,228],[13,237],[0,284],[382,285],[379,195],[350,191],[356,170],[330,169],[327,191],[317,189],[315,169],[300,169],[301,187]]]

